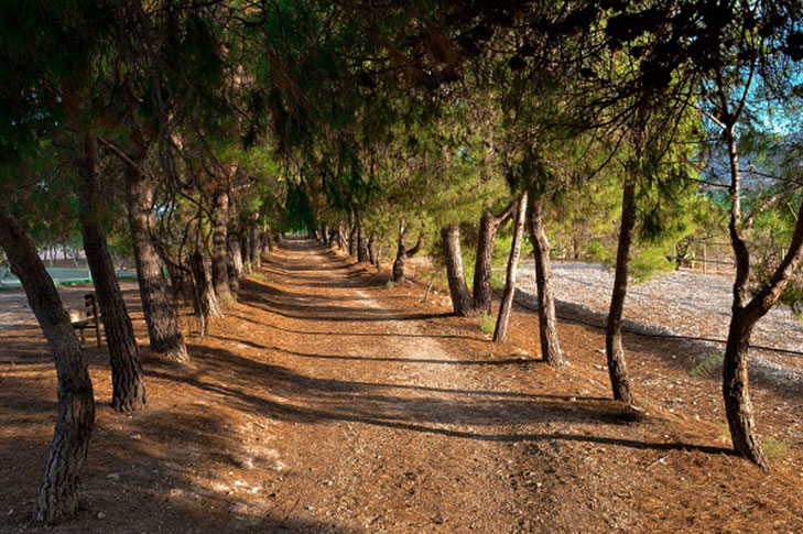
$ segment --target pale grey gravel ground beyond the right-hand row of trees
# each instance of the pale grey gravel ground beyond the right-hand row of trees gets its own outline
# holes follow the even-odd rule
[[[534,265],[528,260],[520,271],[519,291],[533,297]],[[614,272],[599,264],[554,262],[558,314],[604,324],[614,286]],[[529,294],[529,295],[528,295]],[[631,284],[625,304],[625,327],[647,334],[725,339],[730,319],[731,282],[725,276],[676,271],[643,284]],[[803,351],[803,324],[789,306],[778,305],[759,320],[752,344]],[[721,352],[721,344],[694,342],[699,357]],[[803,385],[803,357],[755,350],[751,369],[782,382]]]

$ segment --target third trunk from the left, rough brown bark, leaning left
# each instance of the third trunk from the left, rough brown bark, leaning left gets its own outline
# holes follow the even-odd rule
[[[151,350],[176,361],[185,361],[188,357],[184,336],[167,299],[159,253],[151,238],[151,232],[155,228],[153,185],[142,170],[145,157],[145,150],[141,150],[131,157],[135,166],[130,164],[126,166],[128,220],[131,227],[142,310],[148,324]]]

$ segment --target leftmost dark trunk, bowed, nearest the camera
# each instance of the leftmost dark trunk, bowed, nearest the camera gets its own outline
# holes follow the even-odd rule
[[[53,442],[40,480],[34,519],[57,523],[78,509],[80,471],[89,450],[95,422],[95,400],[84,353],[69,317],[62,306],[28,232],[0,206],[0,247],[11,271],[22,282],[56,364],[58,415]]]

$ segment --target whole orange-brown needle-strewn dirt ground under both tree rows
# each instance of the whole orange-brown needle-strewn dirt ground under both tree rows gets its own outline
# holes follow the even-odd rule
[[[803,528],[800,444],[771,475],[733,457],[716,380],[690,377],[675,348],[626,338],[649,411],[633,413],[609,399],[597,330],[562,324],[572,366],[555,371],[533,316],[519,310],[499,346],[370,271],[286,242],[206,338],[188,337],[188,366],[144,351],[135,414],[109,408],[108,356],[88,346],[98,410],[82,512],[47,532]],[[14,314],[0,328],[0,532],[44,532],[29,513],[55,373],[33,317]],[[762,424],[799,421],[788,400],[758,396]]]

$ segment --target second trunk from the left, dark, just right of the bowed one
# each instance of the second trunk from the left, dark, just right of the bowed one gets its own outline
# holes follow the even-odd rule
[[[89,270],[95,292],[98,295],[100,317],[109,346],[111,363],[111,407],[118,412],[132,412],[145,404],[145,385],[137,346],[137,337],[120,284],[115,274],[115,264],[100,226],[98,184],[97,140],[94,135],[84,138],[84,157],[78,167],[78,197],[80,200],[80,232],[84,237]]]

